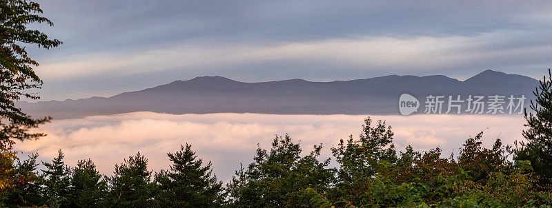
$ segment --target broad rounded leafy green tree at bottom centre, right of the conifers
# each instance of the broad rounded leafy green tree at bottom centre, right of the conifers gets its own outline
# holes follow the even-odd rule
[[[257,148],[254,163],[236,171],[228,184],[230,207],[300,207],[310,197],[302,194],[307,187],[326,193],[334,182],[335,169],[328,168],[330,159],[317,160],[322,145],[300,156],[299,144],[286,135],[277,136],[270,152]]]

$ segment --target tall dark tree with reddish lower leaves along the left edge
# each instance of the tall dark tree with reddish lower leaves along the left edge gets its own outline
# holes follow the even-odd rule
[[[39,3],[25,0],[0,1],[0,198],[6,189],[17,188],[17,180],[30,180],[16,175],[14,160],[17,154],[12,145],[15,141],[36,139],[44,136],[40,132],[29,132],[50,121],[50,118],[34,119],[15,106],[14,101],[21,98],[37,99],[36,90],[42,81],[34,73],[33,67],[39,65],[32,59],[26,47],[36,45],[39,48],[55,48],[61,44],[50,39],[39,30],[29,28],[30,24],[52,26],[52,21],[41,17]]]

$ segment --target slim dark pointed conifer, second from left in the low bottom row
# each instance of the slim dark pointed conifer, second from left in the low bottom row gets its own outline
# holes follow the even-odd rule
[[[43,169],[44,195],[48,202],[48,207],[61,207],[68,203],[68,187],[70,184],[70,169],[63,162],[63,152],[58,150],[58,155],[52,160],[52,163],[42,163],[46,169]]]

